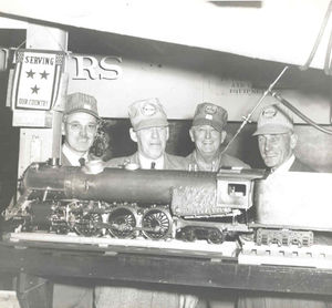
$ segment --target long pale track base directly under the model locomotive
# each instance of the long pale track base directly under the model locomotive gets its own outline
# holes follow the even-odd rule
[[[105,254],[136,253],[136,254],[156,254],[186,256],[197,258],[210,258],[218,260],[222,257],[236,257],[238,245],[236,242],[224,242],[222,244],[209,244],[206,240],[196,240],[194,243],[177,239],[172,240],[152,240],[145,238],[121,239],[105,237],[83,237],[74,234],[56,235],[49,233],[8,233],[3,240],[17,243],[21,246],[62,245],[62,248],[73,246],[84,247],[86,250],[104,250]]]

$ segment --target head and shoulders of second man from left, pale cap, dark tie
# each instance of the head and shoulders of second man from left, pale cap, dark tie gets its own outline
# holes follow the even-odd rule
[[[185,157],[165,152],[169,129],[166,113],[158,99],[133,103],[128,114],[132,123],[129,134],[137,143],[137,152],[131,156],[113,158],[106,163],[106,167],[135,164],[145,170],[187,170]]]

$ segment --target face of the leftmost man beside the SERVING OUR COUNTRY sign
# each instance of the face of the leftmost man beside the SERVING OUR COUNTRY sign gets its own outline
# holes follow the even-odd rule
[[[62,125],[65,143],[77,153],[85,153],[93,144],[97,120],[85,112],[75,112],[66,116]]]

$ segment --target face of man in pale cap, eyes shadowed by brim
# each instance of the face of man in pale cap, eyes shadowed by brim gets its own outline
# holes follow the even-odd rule
[[[131,137],[137,142],[138,153],[151,160],[159,158],[165,153],[168,134],[168,127],[131,129]]]

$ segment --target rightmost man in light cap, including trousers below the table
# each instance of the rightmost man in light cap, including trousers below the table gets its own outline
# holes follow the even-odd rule
[[[289,112],[280,104],[263,109],[257,121],[258,146],[260,155],[272,174],[287,172],[313,172],[299,161],[293,150],[298,136],[293,131],[293,120]],[[288,215],[287,213],[284,215]],[[310,297],[295,295],[246,294],[238,299],[238,308],[324,308],[328,302]],[[329,306],[330,307],[330,306]]]

